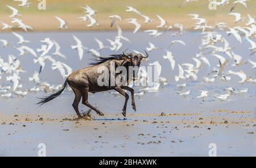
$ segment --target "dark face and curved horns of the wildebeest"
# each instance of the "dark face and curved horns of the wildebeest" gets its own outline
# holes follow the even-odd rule
[[[126,54],[125,51],[123,51],[123,56],[127,57],[127,60],[130,62],[130,66],[133,66],[133,67],[135,67],[135,66],[139,67],[141,65],[142,59],[148,57],[148,53],[145,50],[144,51],[146,52],[146,56],[144,56],[140,53],[138,53],[138,54],[134,54],[134,53]]]

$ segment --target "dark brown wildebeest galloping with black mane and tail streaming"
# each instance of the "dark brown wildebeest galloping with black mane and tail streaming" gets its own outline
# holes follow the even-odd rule
[[[127,73],[127,77],[126,77],[127,82],[125,85],[115,84],[113,86],[111,85],[100,86],[98,85],[98,81],[97,81],[98,77],[101,75],[98,73],[98,68],[100,68],[101,66],[110,68],[110,64],[112,63],[114,64],[115,68],[122,66],[122,67],[125,67],[126,70],[128,71],[129,67],[139,67],[142,59],[148,57],[147,51],[145,51],[146,56],[143,56],[142,54],[134,54],[134,53],[125,54],[125,51],[123,51],[123,54],[110,55],[110,57],[99,57],[97,55],[93,55],[94,62],[90,63],[92,66],[83,68],[81,70],[78,70],[70,74],[67,77],[67,80],[65,81],[63,87],[61,87],[60,91],[53,93],[49,97],[40,98],[41,101],[38,102],[38,104],[43,105],[46,102],[53,100],[53,98],[56,98],[64,91],[64,89],[67,87],[67,84],[68,84],[72,88],[73,92],[75,93],[75,100],[73,102],[73,107],[76,111],[76,114],[79,116],[79,118],[82,118],[78,108],[81,98],[82,98],[82,104],[96,111],[98,115],[103,116],[104,114],[100,110],[98,110],[96,107],[89,104],[88,92],[96,93],[96,92],[102,92],[102,91],[109,91],[112,89],[114,89],[118,93],[125,96],[125,105],[123,106],[123,109],[122,109],[122,114],[124,117],[126,117],[126,105],[129,99],[129,95],[125,91],[123,91],[123,89],[131,92],[131,106],[133,106],[133,109],[136,111],[136,106],[134,101],[134,89],[128,87],[127,85],[129,84],[129,81],[131,80],[131,78],[135,80],[135,77],[138,74],[135,74],[133,71],[133,75],[129,76],[128,75],[129,73]],[[115,74],[115,77],[116,75],[118,74]]]

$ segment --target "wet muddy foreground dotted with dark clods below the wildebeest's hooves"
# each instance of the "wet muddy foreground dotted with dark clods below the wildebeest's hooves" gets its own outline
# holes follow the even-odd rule
[[[37,145],[44,143],[47,156],[208,156],[208,145],[215,143],[218,156],[256,156],[256,119],[250,111],[240,113],[2,118],[0,155],[37,156]]]

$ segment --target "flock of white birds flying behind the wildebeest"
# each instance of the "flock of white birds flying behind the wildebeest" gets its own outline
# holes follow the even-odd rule
[[[26,0],[15,0],[20,1],[21,4],[19,4],[19,7],[29,7],[30,2],[27,2]],[[194,0],[196,1],[196,0]],[[193,2],[193,0],[186,0],[185,3]],[[189,80],[198,80],[198,72],[204,67],[204,66],[210,66],[210,62],[208,60],[208,57],[214,57],[218,60],[219,64],[217,65],[217,68],[213,68],[213,70],[208,74],[208,76],[203,77],[204,83],[213,83],[216,80],[223,80],[223,81],[229,81],[231,80],[231,77],[233,75],[239,76],[241,78],[238,83],[254,83],[256,84],[256,79],[253,79],[253,77],[247,76],[245,72],[243,72],[241,67],[244,64],[251,64],[251,71],[254,71],[256,69],[256,62],[255,60],[255,54],[256,54],[256,44],[254,42],[254,39],[256,37],[256,22],[255,18],[251,16],[250,14],[247,14],[247,18],[242,17],[241,14],[237,12],[233,12],[236,10],[237,5],[242,5],[244,7],[247,7],[246,5],[247,0],[238,0],[232,2],[232,9],[230,10],[230,13],[228,15],[233,15],[234,22],[244,22],[245,27],[229,27],[226,23],[217,23],[216,25],[209,25],[207,19],[201,18],[198,14],[188,14],[191,16],[192,20],[195,21],[195,26],[193,29],[196,31],[201,32],[201,45],[199,46],[200,53],[196,54],[196,57],[192,57],[192,60],[195,62],[195,64],[192,63],[176,63],[174,55],[172,55],[172,52],[170,50],[164,49],[166,51],[166,54],[163,55],[164,59],[167,59],[171,64],[171,70],[174,70],[175,68],[178,68],[179,73],[175,75],[174,80],[176,82],[182,82],[181,84],[177,84],[177,88],[183,89],[181,92],[177,93],[180,96],[187,97],[191,91],[184,91],[186,87],[186,81]],[[222,0],[221,2],[216,2],[217,6],[224,6],[228,5],[231,2],[228,0]],[[18,28],[23,31],[33,30],[33,28],[30,25],[26,25],[22,21],[22,15],[19,14],[18,10],[12,6],[7,5],[6,7],[10,8],[12,11],[12,14],[10,15],[11,23],[13,25],[9,25],[2,22],[2,31],[6,29],[13,29]],[[100,25],[100,23],[97,22],[94,16],[96,16],[97,11],[93,10],[89,6],[82,7],[85,10],[86,15],[79,17],[81,21],[84,21],[87,27],[94,27]],[[232,11],[232,12],[231,12]],[[159,25],[156,26],[156,29],[148,29],[144,31],[148,35],[152,37],[158,37],[158,36],[164,36],[168,31],[173,31],[174,34],[172,36],[180,37],[183,36],[183,25],[176,23],[176,24],[168,24],[166,20],[164,20],[161,16],[156,15],[157,19],[151,19],[149,16],[143,15],[140,11],[135,9],[134,7],[127,6],[126,12],[134,12],[138,15],[138,17],[142,17],[144,19],[143,24],[147,24],[153,21],[158,21]],[[60,23],[60,29],[68,29],[68,23],[64,19],[59,18],[58,16],[55,16],[55,18]],[[95,41],[98,44],[98,49],[89,49],[82,45],[81,40],[73,36],[74,39],[74,45],[71,46],[72,49],[77,50],[78,57],[80,60],[82,60],[84,53],[90,53],[95,55],[100,55],[101,50],[112,50],[112,51],[119,51],[119,49],[123,45],[123,41],[130,42],[129,38],[124,37],[122,35],[122,29],[118,25],[118,21],[121,21],[122,18],[119,15],[112,15],[109,16],[110,18],[110,26],[111,27],[117,27],[117,36],[114,37],[114,40],[106,39],[109,44],[104,45],[102,41],[98,40],[98,38],[94,38]],[[57,21],[56,20],[56,21]],[[125,19],[128,23],[134,25],[134,31],[133,33],[137,33],[139,29],[142,26],[142,23],[139,23],[137,21],[137,18],[129,18]],[[248,50],[251,52],[251,59],[244,59],[242,55],[238,55],[234,53],[233,47],[229,45],[228,39],[224,38],[220,32],[225,32],[229,36],[232,35],[235,37],[235,39],[240,42],[241,44],[243,42],[247,42],[247,44],[250,45]],[[0,56],[0,80],[2,79],[3,74],[6,75],[6,81],[10,81],[9,85],[2,86],[0,83],[0,95],[1,97],[14,97],[16,94],[17,96],[26,96],[28,92],[39,92],[39,91],[56,91],[61,87],[61,85],[51,85],[47,82],[42,82],[40,80],[40,73],[44,70],[44,67],[46,63],[51,63],[52,70],[58,70],[60,72],[60,75],[63,76],[63,79],[67,77],[72,72],[72,68],[69,67],[67,64],[57,61],[58,57],[66,58],[64,53],[61,53],[61,47],[60,45],[51,38],[45,38],[44,40],[41,40],[42,47],[39,49],[32,49],[28,46],[30,44],[30,41],[26,40],[26,37],[23,37],[19,35],[17,32],[12,32],[15,37],[17,37],[18,42],[16,44],[18,46],[14,46],[16,50],[20,52],[20,55],[26,55],[30,54],[34,57],[34,63],[39,65],[39,70],[34,72],[34,75],[29,77],[28,80],[35,83],[35,87],[30,89],[23,89],[23,85],[20,82],[20,73],[26,72],[23,70],[23,67],[20,64],[20,61],[18,57],[15,57],[14,55],[9,55],[8,61],[5,62],[4,59]],[[5,39],[0,39],[0,46],[1,48],[5,48],[10,45],[10,43]],[[151,52],[153,50],[162,50],[162,48],[156,47],[151,42],[148,42],[148,47],[146,50],[148,52]],[[170,42],[170,46],[173,45],[183,45],[184,49],[186,46],[186,43],[181,40],[174,40]],[[53,52],[52,50],[55,49]],[[139,53],[139,51],[133,50],[135,53]],[[207,52],[207,53],[206,53]],[[148,60],[146,60],[148,62]],[[239,71],[232,71],[232,70],[226,70],[226,66],[232,63],[232,66],[238,67]],[[158,92],[158,89],[161,85],[167,85],[167,79],[164,77],[160,77],[160,73],[162,70],[161,64],[156,61],[153,63],[148,63],[149,66],[156,66],[156,69],[158,70],[159,75],[159,82],[154,85],[154,87],[144,87],[139,89],[139,92],[136,93],[137,96],[142,96],[146,92]],[[147,72],[146,68],[140,68],[139,70],[139,81],[143,82],[147,81]],[[229,101],[229,97],[232,94],[245,94],[248,92],[248,88],[226,88],[224,94],[214,94],[214,97],[218,98],[221,101]],[[113,92],[113,94],[117,94]],[[200,91],[198,98],[201,98],[203,101],[206,97],[209,96],[208,91]]]

